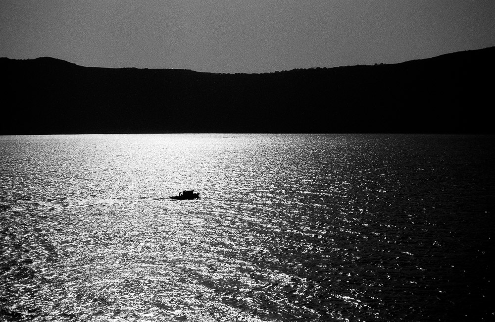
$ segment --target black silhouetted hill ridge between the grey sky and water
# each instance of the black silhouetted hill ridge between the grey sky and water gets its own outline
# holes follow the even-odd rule
[[[494,133],[494,56],[488,48],[264,74],[0,58],[0,134]]]

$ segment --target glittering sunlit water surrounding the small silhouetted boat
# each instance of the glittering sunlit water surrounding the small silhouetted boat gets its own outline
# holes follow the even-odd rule
[[[0,136],[0,321],[494,321],[494,160],[490,135]]]

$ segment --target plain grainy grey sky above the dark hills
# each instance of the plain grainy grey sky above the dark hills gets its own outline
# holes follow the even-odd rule
[[[495,46],[495,0],[0,0],[0,57],[261,73]]]

